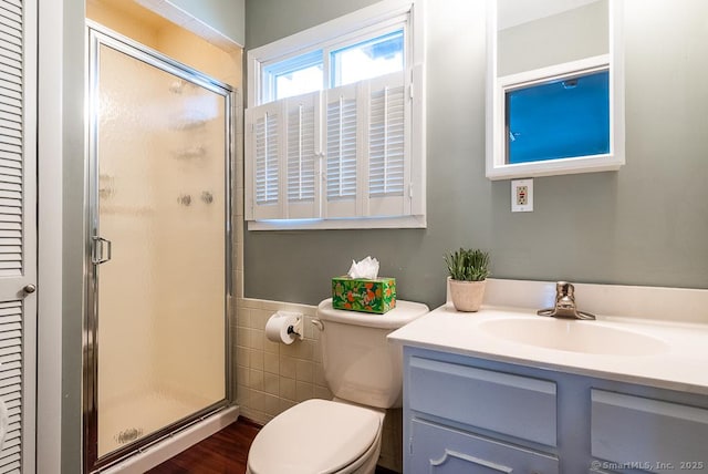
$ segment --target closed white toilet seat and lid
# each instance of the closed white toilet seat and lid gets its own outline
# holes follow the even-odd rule
[[[258,433],[248,457],[251,474],[329,474],[371,455],[381,442],[383,412],[306,400],[271,420]],[[378,450],[376,450],[378,452]]]

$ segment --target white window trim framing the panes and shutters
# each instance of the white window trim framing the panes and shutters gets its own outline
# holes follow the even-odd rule
[[[426,223],[426,123],[425,123],[425,43],[424,43],[424,3],[425,0],[385,0],[371,7],[361,9],[345,17],[337,18],[321,25],[295,33],[291,37],[273,43],[253,49],[247,54],[248,69],[248,106],[260,104],[261,68],[273,61],[283,61],[289,56],[305,53],[309,49],[323,49],[330,44],[337,48],[345,43],[355,43],[364,32],[391,30],[392,25],[400,22],[405,16],[409,16],[408,35],[409,50],[406,64],[409,76],[406,83],[410,84],[407,94],[412,97],[410,106],[418,112],[413,114],[409,121],[412,142],[409,151],[410,181],[407,183],[407,194],[410,199],[410,215],[393,217],[351,217],[351,218],[317,218],[317,219],[274,219],[274,220],[248,220],[249,230],[277,230],[277,229],[362,229],[362,228],[425,228]],[[334,39],[332,41],[327,41]],[[325,55],[329,60],[329,55]],[[324,64],[324,81],[329,81],[329,64]],[[415,84],[415,93],[413,85]],[[329,85],[329,84],[325,84]],[[325,87],[326,89],[326,87]],[[247,146],[248,145],[248,131]],[[252,196],[249,189],[252,185],[251,165],[246,159],[246,199],[244,215],[248,218]]]

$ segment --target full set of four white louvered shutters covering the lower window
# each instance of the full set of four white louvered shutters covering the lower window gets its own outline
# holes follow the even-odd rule
[[[410,216],[406,76],[392,73],[247,110],[246,218]]]

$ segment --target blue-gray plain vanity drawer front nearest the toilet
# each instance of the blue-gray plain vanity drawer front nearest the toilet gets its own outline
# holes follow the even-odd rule
[[[412,410],[556,445],[555,383],[412,357]]]

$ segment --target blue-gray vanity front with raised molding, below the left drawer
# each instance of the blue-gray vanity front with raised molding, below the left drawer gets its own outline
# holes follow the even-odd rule
[[[555,456],[414,419],[405,472],[410,474],[559,473]]]

